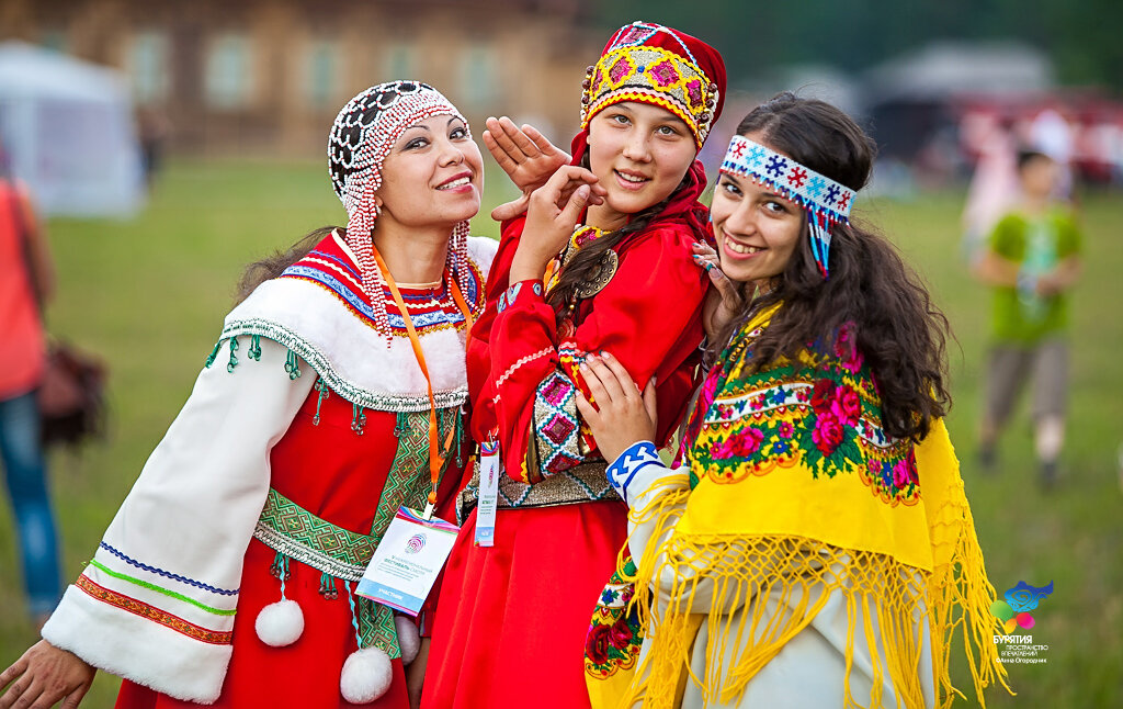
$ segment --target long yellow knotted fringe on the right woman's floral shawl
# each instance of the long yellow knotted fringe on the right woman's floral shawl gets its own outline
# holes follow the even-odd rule
[[[706,703],[733,701],[784,645],[807,627],[832,593],[844,596],[849,617],[847,707],[865,706],[864,698],[851,694],[849,683],[859,620],[873,670],[869,707],[891,701],[883,697],[886,678],[894,688],[896,706],[924,706],[917,667],[925,621],[937,707],[950,707],[956,696],[964,697],[951,684],[949,666],[958,629],[964,634],[979,705],[986,706],[983,689],[996,682],[1014,693],[993,642],[999,631],[989,612],[995,591],[986,576],[961,481],[957,480],[957,489],[949,491],[948,502],[937,510],[930,525],[937,558],[931,573],[884,554],[794,536],[684,538],[675,535],[674,528],[690,491],[676,481],[657,485],[664,483],[667,491],[648,491],[650,503],[632,511],[633,521],[656,520],[652,545],[637,564],[631,601],[640,613],[649,647],[621,707],[677,706],[684,673],[701,688]],[[621,563],[624,558],[621,554]],[[691,610],[701,580],[712,583],[709,611],[701,611],[706,613],[703,622],[710,637],[702,678],[691,669],[700,627],[700,611]],[[765,599],[773,602],[759,602]],[[727,657],[731,657],[729,664]]]

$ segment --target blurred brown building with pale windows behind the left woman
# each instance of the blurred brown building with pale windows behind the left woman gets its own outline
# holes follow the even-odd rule
[[[600,33],[585,0],[4,0],[0,39],[122,70],[143,136],[204,153],[309,155],[338,109],[391,79],[437,87],[477,126],[489,115],[578,119]]]

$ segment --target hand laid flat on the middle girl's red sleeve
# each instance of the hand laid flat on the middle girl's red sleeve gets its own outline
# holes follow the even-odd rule
[[[617,460],[633,443],[655,442],[658,409],[654,380],[640,393],[628,370],[606,352],[586,355],[581,375],[596,406],[578,389],[577,410],[605,461]]]

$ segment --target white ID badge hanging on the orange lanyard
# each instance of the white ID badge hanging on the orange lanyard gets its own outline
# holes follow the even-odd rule
[[[417,616],[448,561],[459,527],[403,507],[374,551],[356,593]]]

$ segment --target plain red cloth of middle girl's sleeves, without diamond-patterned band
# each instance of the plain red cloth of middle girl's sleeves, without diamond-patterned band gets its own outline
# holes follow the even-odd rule
[[[487,306],[472,330],[468,348],[473,436],[483,440],[490,431],[501,430],[503,464],[515,478],[526,461],[535,390],[557,367],[560,344],[554,309],[531,291],[530,282],[503,313],[495,307],[510,285],[523,224],[519,218],[504,225],[487,279]],[[707,281],[692,257],[694,235],[683,221],[661,220],[618,246],[617,273],[595,297],[578,301],[572,338],[578,349],[610,352],[641,388],[656,378],[659,445],[678,425],[696,384],[694,365],[704,336],[701,307]],[[501,378],[503,384],[496,390]]]

